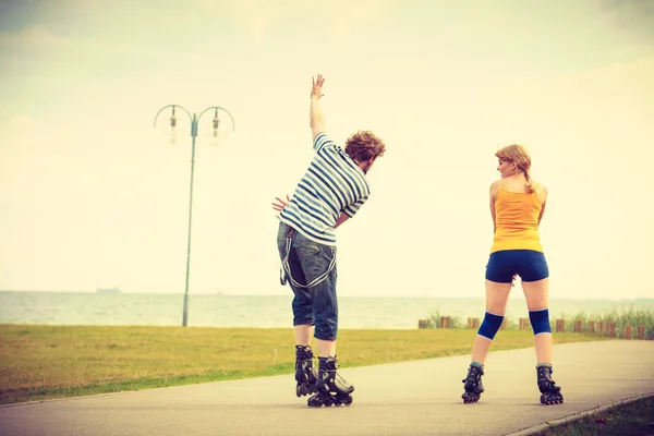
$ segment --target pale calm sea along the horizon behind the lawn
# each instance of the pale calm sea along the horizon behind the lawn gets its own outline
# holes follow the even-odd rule
[[[654,312],[654,300],[550,300],[552,317],[580,312]],[[0,324],[85,326],[180,326],[183,294],[126,292],[0,291]],[[292,326],[291,294],[190,294],[187,325],[196,327]],[[419,319],[450,316],[467,324],[483,318],[484,299],[339,296],[341,329],[414,329]],[[524,300],[510,299],[509,319],[528,316]]]

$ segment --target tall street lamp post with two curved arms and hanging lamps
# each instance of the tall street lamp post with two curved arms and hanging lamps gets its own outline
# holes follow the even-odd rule
[[[198,123],[199,119],[202,118],[202,116],[206,111],[214,109],[214,121],[213,121],[214,122],[214,136],[218,137],[218,125],[220,123],[220,121],[218,119],[218,111],[225,112],[229,116],[229,119],[231,120],[232,132],[234,130],[234,118],[227,109],[221,108],[219,106],[208,107],[205,110],[203,110],[202,112],[199,112],[199,116],[196,117],[195,112],[194,112],[193,117],[191,117],[191,113],[186,109],[184,109],[182,106],[168,105],[168,106],[165,106],[161,109],[159,109],[159,111],[155,116],[155,126],[157,126],[157,118],[159,117],[159,113],[161,113],[161,111],[167,108],[172,108],[172,116],[170,117],[170,126],[172,129],[172,138],[173,140],[174,140],[174,128],[177,125],[177,118],[174,116],[174,109],[175,108],[182,109],[189,116],[189,120],[191,120],[191,137],[192,137],[192,143],[191,143],[192,144],[191,145],[191,192],[189,195],[189,235],[187,235],[187,243],[186,243],[186,284],[184,288],[184,313],[182,316],[182,326],[186,327],[186,322],[189,319],[189,272],[190,272],[190,268],[191,268],[191,225],[192,225],[192,218],[193,218],[193,172],[195,169],[195,137],[197,136],[197,123]]]

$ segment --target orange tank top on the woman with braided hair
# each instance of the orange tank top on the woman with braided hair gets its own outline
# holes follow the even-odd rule
[[[491,253],[502,250],[543,252],[538,217],[543,205],[536,192],[510,192],[501,187],[495,198],[495,237]]]

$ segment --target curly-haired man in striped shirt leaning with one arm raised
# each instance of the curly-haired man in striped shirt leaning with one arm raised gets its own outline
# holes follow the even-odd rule
[[[280,211],[278,247],[283,266],[282,283],[289,279],[294,293],[292,308],[299,397],[313,391],[311,382],[315,370],[310,342],[314,325],[320,374],[325,366],[334,367],[331,374],[336,375],[338,303],[335,229],[352,218],[368,198],[371,191],[366,173],[385,152],[384,143],[368,131],[350,136],[344,150],[327,136],[318,104],[323,97],[324,81],[318,74],[311,92],[313,160],[298,183],[293,197],[288,203],[277,198],[280,203],[274,204]],[[317,389],[322,390],[320,382]],[[319,401],[312,404],[314,397],[310,398],[308,405],[322,405]],[[342,403],[348,402],[343,400]]]

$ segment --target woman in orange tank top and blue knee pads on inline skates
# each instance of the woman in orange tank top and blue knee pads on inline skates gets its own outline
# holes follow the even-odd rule
[[[463,402],[476,402],[484,391],[484,361],[493,338],[504,322],[513,279],[519,276],[534,330],[536,382],[541,402],[564,401],[552,379],[552,327],[549,325],[549,270],[538,226],[547,201],[547,189],[530,174],[531,157],[521,145],[509,145],[495,156],[501,178],[491,184],[493,244],[486,265],[486,313],[472,348],[464,383]]]

